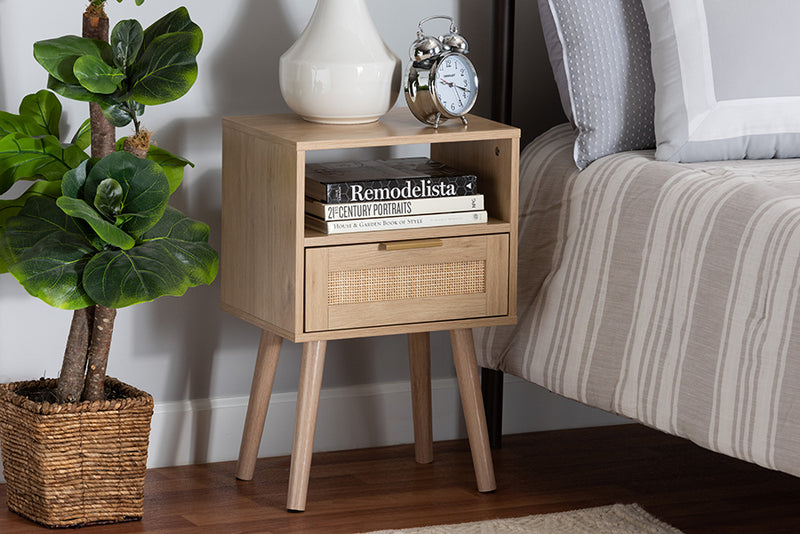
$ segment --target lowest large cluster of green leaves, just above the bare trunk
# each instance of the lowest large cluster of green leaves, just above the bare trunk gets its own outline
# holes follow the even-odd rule
[[[208,226],[167,207],[158,164],[113,152],[89,165],[64,175],[57,200],[30,201],[7,223],[0,256],[31,295],[64,309],[123,308],[214,280]]]

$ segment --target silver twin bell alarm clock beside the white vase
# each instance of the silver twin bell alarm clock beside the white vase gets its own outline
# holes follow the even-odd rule
[[[433,19],[449,20],[450,33],[425,35],[422,25]],[[417,119],[434,128],[447,119],[467,124],[466,114],[478,98],[478,75],[468,52],[452,17],[435,15],[420,21],[404,87],[408,109]]]

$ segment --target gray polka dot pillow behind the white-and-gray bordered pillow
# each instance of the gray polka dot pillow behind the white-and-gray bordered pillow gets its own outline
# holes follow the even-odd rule
[[[655,147],[650,34],[641,0],[539,0],[575,163]]]

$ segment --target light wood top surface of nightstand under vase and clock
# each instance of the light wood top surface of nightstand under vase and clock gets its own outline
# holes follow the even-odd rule
[[[485,139],[519,138],[520,130],[477,115],[468,115],[469,124],[448,120],[438,129],[422,124],[407,108],[394,108],[381,119],[368,124],[315,124],[293,113],[225,117],[225,127],[297,150],[324,150],[400,144],[446,143]]]

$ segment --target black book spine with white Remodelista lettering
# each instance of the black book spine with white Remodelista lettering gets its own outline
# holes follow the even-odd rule
[[[306,179],[306,194],[327,204],[455,197],[477,191],[478,177],[474,174],[331,183]]]

